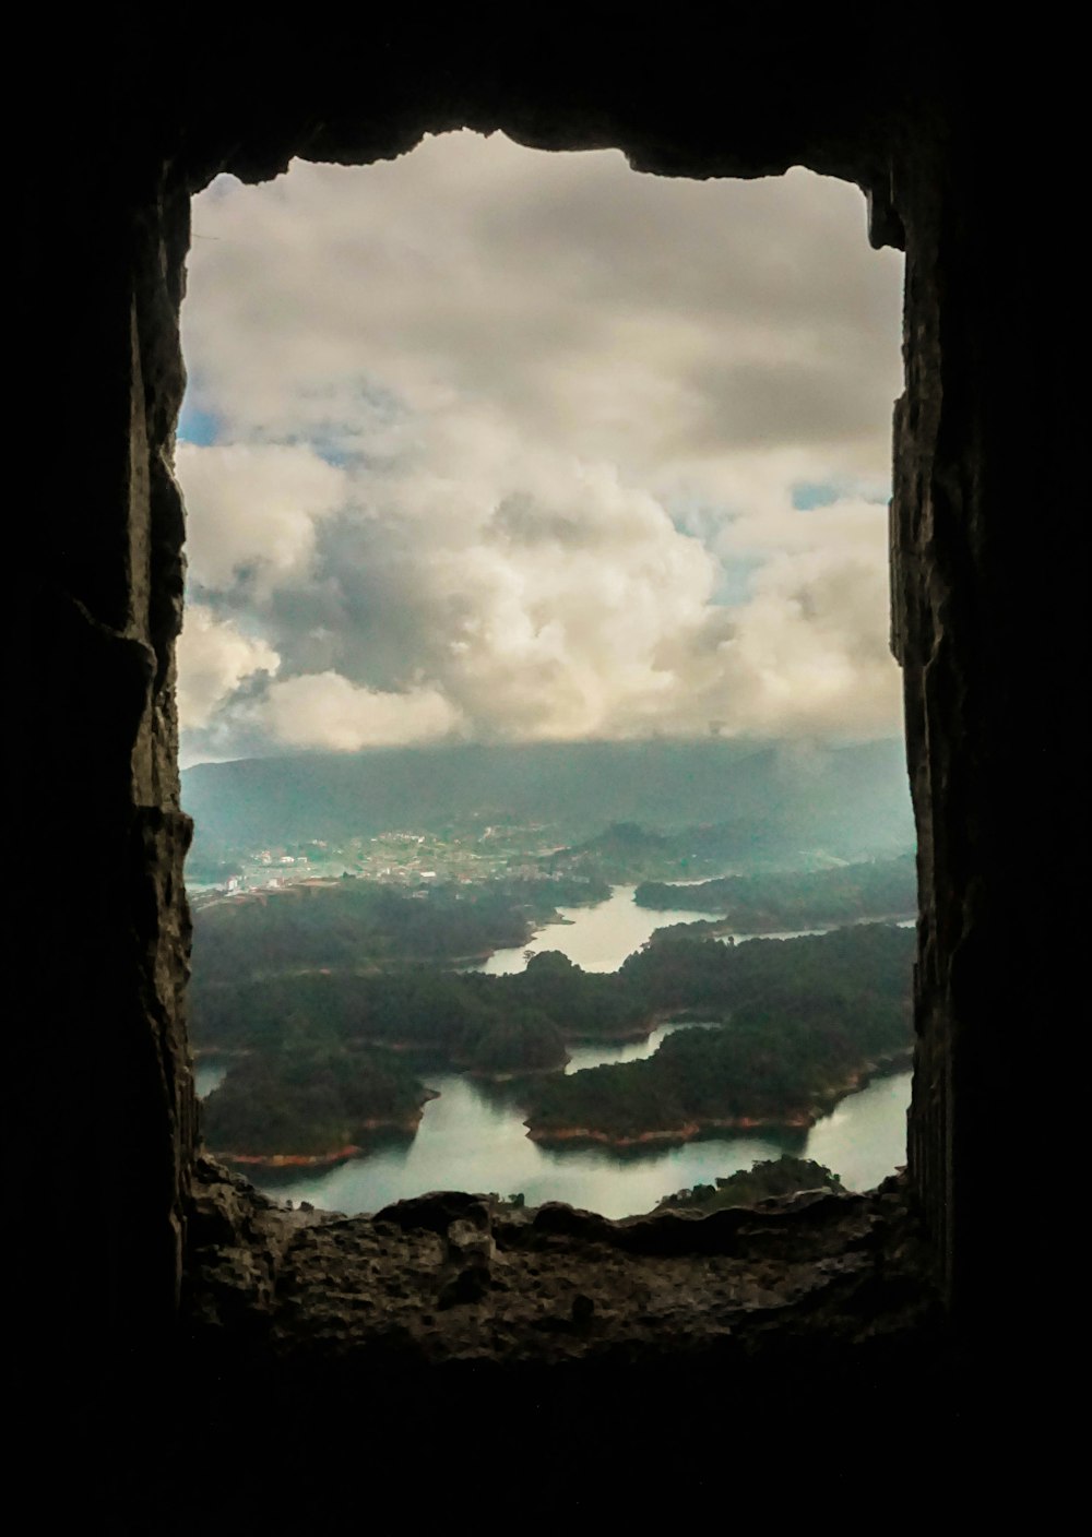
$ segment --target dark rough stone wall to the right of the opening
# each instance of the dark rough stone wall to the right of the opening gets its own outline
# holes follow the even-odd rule
[[[1063,195],[1063,161],[1037,154],[1055,117],[1034,75],[1020,114],[1003,72],[964,85],[954,71],[946,111],[894,154],[907,269],[892,604],[921,895],[911,1174],[944,1290],[984,1340],[1023,1306],[1029,1262],[1012,1211],[1032,1171],[1014,1168],[1006,1117],[1054,1093],[1081,987],[1069,722],[1087,647],[1066,489],[1077,281],[1035,217]]]

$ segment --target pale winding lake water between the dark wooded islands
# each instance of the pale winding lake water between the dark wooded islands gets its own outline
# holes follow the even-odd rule
[[[614,971],[651,934],[668,924],[715,913],[651,911],[637,907],[634,887],[615,887],[597,907],[561,910],[563,924],[540,930],[529,945],[498,950],[481,970],[523,970],[526,951],[561,950],[588,971]],[[807,930],[818,933],[820,930]],[[743,939],[744,936],[738,936]],[[795,938],[778,934],[772,938]],[[566,1071],[651,1056],[672,1030],[661,1025],[648,1041],[626,1047],[574,1047]],[[311,1200],[335,1211],[377,1211],[426,1190],[481,1190],[501,1196],[521,1191],[529,1205],[568,1200],[574,1207],[626,1217],[648,1211],[661,1196],[717,1176],[749,1168],[757,1159],[794,1153],[826,1164],[851,1190],[869,1190],[906,1162],[906,1108],[911,1073],[895,1073],[843,1099],[832,1114],[806,1133],[715,1136],[683,1147],[648,1148],[624,1154],[597,1147],[544,1148],[531,1142],[523,1113],[506,1085],[486,1084],[458,1073],[421,1074],[440,1097],[424,1107],[412,1140],[392,1142],[366,1157],[352,1159],[314,1176],[269,1182],[280,1199]],[[223,1068],[201,1064],[198,1094],[209,1093]]]

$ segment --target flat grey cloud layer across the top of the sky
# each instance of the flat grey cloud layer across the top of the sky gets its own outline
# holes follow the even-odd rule
[[[857,188],[686,181],[501,135],[365,169],[295,164],[198,201],[185,341],[234,433],[501,401],[521,435],[626,472],[740,443],[886,472],[900,258]],[[203,238],[208,237],[208,238]],[[200,306],[200,307],[198,307]]]

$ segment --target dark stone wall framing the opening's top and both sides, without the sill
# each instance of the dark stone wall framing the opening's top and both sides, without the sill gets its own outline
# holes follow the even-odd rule
[[[1054,807],[1066,775],[1075,784],[1060,705],[1077,564],[1054,532],[1064,367],[1049,350],[1064,283],[1035,220],[1003,218],[1032,157],[1063,186],[1057,157],[1035,151],[1034,51],[1021,38],[1017,112],[1004,71],[875,8],[867,23],[786,26],[732,8],[731,23],[703,12],[624,32],[584,17],[577,35],[554,14],[529,25],[426,37],[368,17],[285,38],[225,15],[198,54],[141,14],[43,52],[57,105],[18,231],[32,480],[11,603],[31,744],[12,801],[15,954],[38,985],[12,1077],[15,1136],[42,1150],[20,1228],[37,1256],[25,1293],[69,1379],[154,1359],[195,1156],[172,704],[183,515],[169,467],[188,194],[220,169],[257,180],[292,154],[365,163],[460,124],[617,144],[661,174],[803,163],[867,186],[878,238],[906,232],[892,544],[921,835],[911,1164],[952,1294],[994,1286],[995,1107],[1017,1085],[1027,1024],[1047,1024],[1063,996],[1054,967],[1014,968],[1014,925],[1024,956],[1049,953],[1064,887]]]

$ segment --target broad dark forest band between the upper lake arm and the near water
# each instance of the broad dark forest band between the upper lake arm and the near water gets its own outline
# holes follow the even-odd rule
[[[238,1054],[208,1100],[206,1136],[221,1151],[263,1153],[283,1139],[277,1151],[311,1153],[358,1140],[334,1133],[363,1122],[405,1125],[423,1099],[408,1050],[418,1064],[517,1079],[543,1140],[806,1125],[855,1076],[909,1050],[912,954],[912,933],[869,924],[735,947],[668,936],[617,973],[546,951],[511,976],[418,965],[198,979],[195,1044]],[[717,1024],[668,1036],[646,1061],[560,1071],[568,1042],[640,1039],[657,1017],[687,1014]],[[377,1077],[381,1067],[394,1076]],[[354,1073],[361,1100],[345,1097]],[[238,1140],[266,1122],[265,1142]]]

